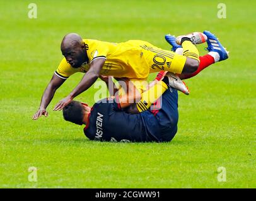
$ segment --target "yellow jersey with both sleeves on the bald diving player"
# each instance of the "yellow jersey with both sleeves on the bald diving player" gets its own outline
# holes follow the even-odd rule
[[[113,77],[127,77],[129,79],[146,79],[149,73],[148,63],[143,57],[143,48],[140,45],[146,41],[129,40],[124,43],[110,43],[105,41],[84,39],[88,63],[79,68],[73,68],[63,58],[55,73],[62,79],[67,79],[76,72],[86,72],[90,63],[98,58],[106,61],[100,72],[101,75],[112,75]]]

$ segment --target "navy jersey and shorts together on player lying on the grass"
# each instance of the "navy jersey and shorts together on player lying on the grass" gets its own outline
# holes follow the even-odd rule
[[[84,134],[100,141],[171,141],[177,133],[178,93],[168,89],[151,107],[128,114],[115,99],[102,99],[91,109]]]

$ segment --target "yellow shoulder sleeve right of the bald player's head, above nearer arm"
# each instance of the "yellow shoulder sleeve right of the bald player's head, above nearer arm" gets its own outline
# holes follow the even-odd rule
[[[107,60],[108,51],[109,45],[107,42],[98,40],[91,41],[87,52],[90,63],[98,58],[104,58]]]

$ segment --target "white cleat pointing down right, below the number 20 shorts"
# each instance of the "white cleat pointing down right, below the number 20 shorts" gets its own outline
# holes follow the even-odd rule
[[[186,95],[189,95],[189,88],[186,86],[185,82],[182,82],[182,80],[180,80],[177,75],[172,72],[167,72],[165,76],[168,77],[170,87],[180,90]]]

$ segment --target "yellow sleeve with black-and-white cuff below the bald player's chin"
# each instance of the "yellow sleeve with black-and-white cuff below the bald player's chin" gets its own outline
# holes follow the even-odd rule
[[[63,58],[61,63],[59,63],[59,67],[55,70],[55,75],[66,80],[70,75],[76,72],[79,72],[79,68],[71,67],[71,65],[67,63],[66,58]]]

